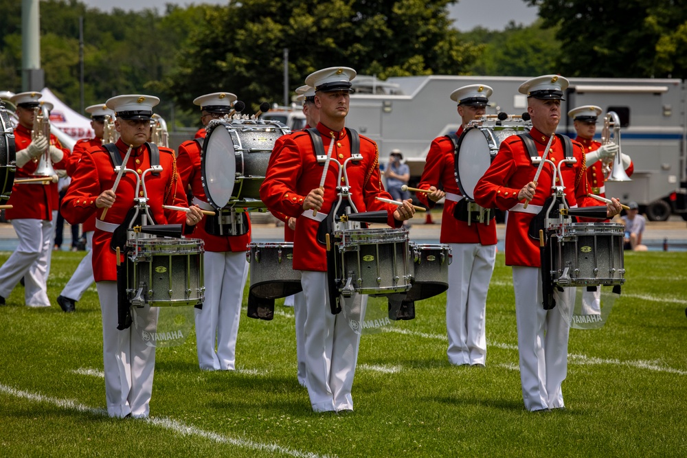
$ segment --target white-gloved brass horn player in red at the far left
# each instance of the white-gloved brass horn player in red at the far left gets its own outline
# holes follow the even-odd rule
[[[10,101],[16,106],[19,124],[14,128],[16,144],[16,172],[9,205],[5,212],[19,238],[14,253],[0,268],[0,304],[23,277],[24,302],[30,307],[49,307],[47,297],[47,273],[49,255],[52,249],[53,212],[57,210],[57,179],[17,183],[21,179],[36,178],[41,159],[52,162],[56,170],[65,170],[69,150],[45,128],[47,119],[36,119],[34,108],[40,106],[40,92],[23,92],[14,95]],[[41,124],[43,123],[43,124]],[[48,164],[50,165],[50,164]],[[53,170],[54,172],[54,170]],[[52,174],[51,174],[52,175]],[[52,178],[52,176],[51,176]]]

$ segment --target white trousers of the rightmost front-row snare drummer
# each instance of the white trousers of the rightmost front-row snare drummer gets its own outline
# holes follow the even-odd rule
[[[561,384],[567,374],[567,339],[570,326],[557,310],[570,300],[574,288],[554,292],[555,308],[541,305],[541,275],[538,267],[513,266],[515,317],[520,357],[520,381],[528,411],[564,407]]]

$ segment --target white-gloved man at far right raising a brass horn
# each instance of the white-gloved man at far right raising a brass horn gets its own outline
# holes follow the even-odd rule
[[[632,160],[627,154],[620,152],[620,145],[612,141],[602,145],[594,140],[596,133],[596,122],[602,110],[595,105],[583,105],[572,108],[567,115],[574,119],[573,126],[577,133],[576,141],[582,144],[585,154],[587,154],[587,181],[592,187],[592,194],[606,196],[604,185],[605,176],[603,172],[603,162],[612,162],[616,154],[620,153],[622,158],[622,168],[625,169],[627,176],[631,176],[634,171]]]

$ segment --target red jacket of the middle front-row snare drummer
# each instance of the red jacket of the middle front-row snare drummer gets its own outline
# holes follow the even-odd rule
[[[332,131],[322,123],[317,124],[322,135],[325,152],[331,141],[335,141],[332,159],[327,169],[324,183],[324,205],[322,211],[328,214],[337,201],[336,186],[339,167],[350,157],[350,139],[346,129]],[[335,135],[333,140],[330,133]],[[323,165],[317,163],[313,141],[304,132],[284,136],[280,148],[273,150],[273,162],[267,168],[267,176],[260,186],[260,199],[270,211],[279,211],[286,216],[297,218],[293,240],[293,268],[300,271],[327,270],[326,249],[317,242],[319,222],[302,216],[303,200],[309,192],[319,187]],[[387,224],[399,227],[400,221],[394,219],[396,205],[376,201],[375,197],[391,198],[384,191],[379,174],[379,151],[374,141],[361,136],[360,153],[362,161],[349,162],[348,186],[351,198],[358,211],[387,211]],[[337,166],[337,163],[339,166]],[[342,176],[343,180],[343,176]],[[308,210],[312,215],[312,210]]]

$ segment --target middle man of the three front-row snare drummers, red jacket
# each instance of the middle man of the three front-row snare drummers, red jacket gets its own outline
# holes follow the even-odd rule
[[[306,78],[306,84],[315,88],[314,102],[319,108],[317,131],[324,150],[333,148],[324,187],[320,187],[324,163],[318,163],[307,132],[284,139],[274,152],[275,158],[260,187],[260,198],[270,211],[296,218],[293,268],[301,271],[306,298],[306,385],[315,412],[353,409],[351,388],[360,334],[352,330],[342,314],[330,311],[326,248],[318,242],[317,230],[337,201],[339,168],[357,153],[351,149],[351,131],[344,128],[350,80],[355,74],[348,67],[330,67]],[[358,211],[385,210],[387,223],[401,227],[403,220],[412,218],[414,208],[409,200],[399,207],[376,201],[377,196],[390,198],[381,185],[379,152],[374,141],[359,138],[362,160],[348,166],[345,183],[350,187],[354,205]]]

